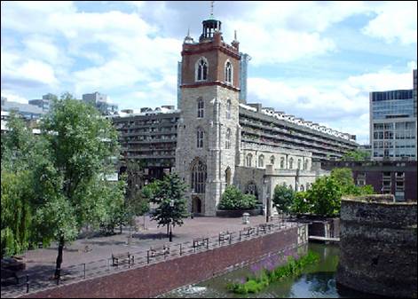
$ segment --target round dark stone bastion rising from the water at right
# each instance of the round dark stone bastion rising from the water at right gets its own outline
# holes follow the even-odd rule
[[[382,195],[343,199],[337,283],[376,295],[416,298],[416,217],[416,202],[393,202]]]

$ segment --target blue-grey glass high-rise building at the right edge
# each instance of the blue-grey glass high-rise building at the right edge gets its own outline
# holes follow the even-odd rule
[[[414,90],[370,92],[372,160],[416,160],[414,97]]]

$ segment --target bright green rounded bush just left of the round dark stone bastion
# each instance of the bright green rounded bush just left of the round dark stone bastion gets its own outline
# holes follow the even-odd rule
[[[341,186],[334,177],[319,177],[307,191],[312,213],[319,216],[337,216],[341,209]]]

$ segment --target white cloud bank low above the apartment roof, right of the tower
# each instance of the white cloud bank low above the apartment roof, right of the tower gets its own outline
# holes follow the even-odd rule
[[[307,121],[327,123],[333,129],[368,140],[369,92],[378,90],[412,89],[412,71],[396,73],[389,69],[350,76],[341,82],[288,83],[265,78],[248,79],[248,103],[260,102],[303,117]]]

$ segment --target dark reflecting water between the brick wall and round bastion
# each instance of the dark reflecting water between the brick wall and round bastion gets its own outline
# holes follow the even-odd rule
[[[319,263],[308,266],[299,277],[288,277],[272,283],[258,294],[236,295],[226,289],[228,282],[247,277],[245,267],[199,284],[181,287],[162,295],[164,298],[365,298],[370,295],[345,289],[335,284],[339,248],[335,245],[310,243],[309,249],[319,254]]]

